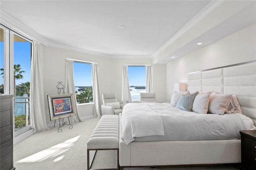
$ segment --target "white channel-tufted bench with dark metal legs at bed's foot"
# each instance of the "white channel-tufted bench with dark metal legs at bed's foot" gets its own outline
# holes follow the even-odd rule
[[[90,150],[117,150],[119,170],[119,115],[103,115],[87,142],[87,170],[90,170]]]

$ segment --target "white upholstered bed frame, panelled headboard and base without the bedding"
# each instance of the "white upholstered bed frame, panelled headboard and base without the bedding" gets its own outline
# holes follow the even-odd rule
[[[242,117],[249,118],[249,121],[256,125],[256,61],[189,73],[188,90],[190,93],[210,91],[210,93],[216,92],[217,94],[236,95],[240,104],[240,110],[242,111]],[[145,107],[145,105],[154,106],[158,104],[143,104],[142,107]],[[171,104],[164,103],[161,105],[168,106]],[[123,112],[126,112],[125,107]],[[189,114],[198,113],[191,112]],[[240,113],[229,115],[238,114]],[[124,123],[122,124],[124,117],[124,115],[120,114],[120,167],[241,162],[240,139],[239,134],[237,134],[239,130],[237,130],[235,136],[226,139],[211,138],[211,140],[205,140],[200,138],[198,140],[198,138],[195,138],[195,140],[191,140],[191,138],[188,138],[185,140],[165,140],[164,138],[159,138],[161,141],[156,141],[147,137],[135,137],[134,139],[126,140],[121,137],[125,136],[122,134],[122,130],[124,129],[122,126],[125,125]],[[254,127],[253,125],[252,127],[248,127],[250,125],[246,126],[247,129]],[[151,135],[154,136],[154,134]]]

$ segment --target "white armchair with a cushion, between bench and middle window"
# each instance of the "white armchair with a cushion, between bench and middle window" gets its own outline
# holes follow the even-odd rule
[[[123,104],[116,99],[116,93],[102,93],[102,115],[119,115],[123,111]]]

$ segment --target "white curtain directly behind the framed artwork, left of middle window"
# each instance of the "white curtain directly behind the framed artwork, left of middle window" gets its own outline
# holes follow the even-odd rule
[[[76,109],[76,116],[69,117],[69,121],[71,124],[78,123],[79,121],[83,121],[80,117],[79,110],[76,104],[76,93],[75,93],[75,84],[74,84],[74,64],[73,60],[66,59],[66,93],[72,93],[74,95],[75,103],[74,103],[74,109]],[[65,121],[67,121],[68,118],[64,118]]]

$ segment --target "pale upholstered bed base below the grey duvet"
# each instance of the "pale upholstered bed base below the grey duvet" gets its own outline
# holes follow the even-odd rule
[[[119,126],[119,136],[122,136],[121,123]],[[119,164],[165,166],[240,163],[240,143],[240,140],[193,140],[131,142],[126,145],[120,137]]]

